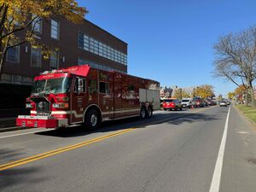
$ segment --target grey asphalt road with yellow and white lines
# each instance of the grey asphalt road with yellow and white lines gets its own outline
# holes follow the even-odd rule
[[[3,132],[0,146],[5,192],[256,191],[256,130],[233,107]]]

